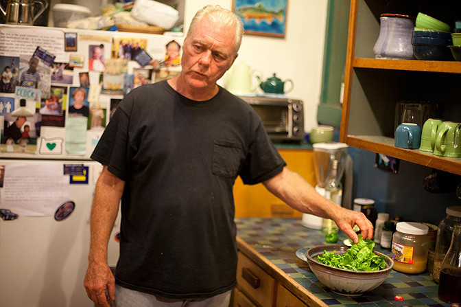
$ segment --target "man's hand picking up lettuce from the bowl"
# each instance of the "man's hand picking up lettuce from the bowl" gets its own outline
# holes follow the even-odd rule
[[[335,220],[336,225],[338,225],[344,234],[351,238],[355,244],[359,242],[359,237],[355,234],[355,231],[353,231],[353,227],[355,225],[360,228],[362,238],[364,238],[364,240],[366,238],[369,238],[370,240],[373,238],[373,224],[362,212],[355,212],[338,207],[333,220]]]

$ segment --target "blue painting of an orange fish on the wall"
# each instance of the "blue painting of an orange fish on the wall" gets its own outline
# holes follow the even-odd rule
[[[233,0],[245,34],[285,37],[288,0]]]

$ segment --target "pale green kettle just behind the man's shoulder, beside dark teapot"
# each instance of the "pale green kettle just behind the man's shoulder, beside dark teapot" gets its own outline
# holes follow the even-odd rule
[[[226,89],[234,95],[248,95],[251,94],[258,87],[258,83],[252,84],[253,75],[259,80],[259,76],[263,76],[262,71],[259,69],[252,69],[244,62],[235,63],[227,80]],[[259,75],[259,76],[258,76]]]

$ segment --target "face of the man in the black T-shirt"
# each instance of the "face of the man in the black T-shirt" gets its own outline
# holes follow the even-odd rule
[[[199,21],[182,52],[182,75],[187,85],[197,90],[213,89],[237,58],[234,47],[233,27],[222,27],[209,17]]]

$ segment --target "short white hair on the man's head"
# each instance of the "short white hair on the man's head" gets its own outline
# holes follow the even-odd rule
[[[189,27],[189,30],[187,31],[185,41],[187,41],[187,38],[189,38],[189,35],[193,32],[198,22],[204,19],[204,17],[206,16],[209,16],[211,19],[213,19],[213,21],[217,21],[221,25],[228,26],[228,27],[234,27],[235,29],[234,54],[237,54],[237,52],[240,49],[240,45],[241,45],[241,36],[244,35],[244,23],[241,22],[241,19],[239,16],[237,16],[230,10],[221,8],[220,5],[211,5],[211,4],[205,5],[202,9],[196,12],[196,16],[193,16],[191,25]]]

